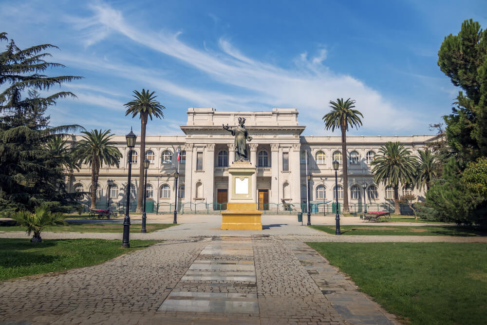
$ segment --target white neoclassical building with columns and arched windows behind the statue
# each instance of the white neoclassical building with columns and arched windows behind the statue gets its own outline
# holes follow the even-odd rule
[[[417,153],[425,144],[434,140],[433,135],[411,136],[348,136],[347,154],[341,152],[340,136],[301,136],[306,126],[300,125],[297,109],[274,108],[266,112],[218,112],[213,108],[189,108],[187,123],[181,126],[185,136],[146,137],[146,152],[140,153],[139,138],[132,156],[131,195],[138,189],[139,164],[144,155],[150,160],[147,180],[147,200],[154,204],[174,203],[175,178],[178,167],[177,153],[181,150],[178,201],[187,203],[225,203],[228,191],[228,164],[234,160],[234,138],[222,128],[222,124],[238,125],[238,117],[244,117],[245,127],[253,137],[247,142],[250,161],[257,166],[253,175],[253,192],[262,207],[267,203],[301,203],[306,200],[306,165],[310,179],[310,200],[335,199],[335,171],[332,161],[348,164],[348,193],[351,204],[362,203],[362,183],[367,183],[367,203],[393,202],[392,188],[375,184],[370,162],[379,148],[388,141],[399,141]],[[72,143],[79,141],[72,136]],[[100,169],[97,196],[101,205],[125,201],[127,186],[128,153],[125,135],[113,137],[123,154],[120,167],[104,166]],[[343,200],[343,179],[338,171],[338,200]],[[108,193],[107,180],[115,185]],[[90,191],[91,169],[83,165],[80,171],[69,176],[70,191]],[[402,189],[402,193],[416,189]],[[400,193],[401,194],[401,193]]]

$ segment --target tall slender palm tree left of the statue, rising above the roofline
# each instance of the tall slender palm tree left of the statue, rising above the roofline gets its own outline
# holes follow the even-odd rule
[[[146,126],[147,126],[147,118],[150,117],[152,120],[152,116],[157,118],[164,118],[164,114],[162,110],[166,107],[162,106],[161,103],[155,100],[157,96],[154,96],[155,92],[149,93],[149,90],[142,89],[142,93],[138,91],[133,91],[133,100],[125,104],[124,106],[127,108],[125,112],[125,116],[132,114],[132,118],[139,115],[140,117],[140,160],[141,163],[139,164],[139,193],[137,196],[137,211],[142,211],[142,198],[144,195],[144,164],[142,161],[144,160],[145,153],[146,153]]]

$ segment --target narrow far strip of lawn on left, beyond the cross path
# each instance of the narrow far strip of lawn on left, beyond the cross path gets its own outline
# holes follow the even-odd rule
[[[166,229],[174,226],[174,224],[147,224],[147,232],[153,232],[160,229]],[[142,224],[131,224],[130,232],[140,232]],[[25,227],[10,226],[0,227],[0,231],[25,231]],[[123,225],[121,223],[80,223],[70,222],[69,226],[49,226],[44,231],[51,232],[123,232]],[[42,235],[41,235],[42,236]]]

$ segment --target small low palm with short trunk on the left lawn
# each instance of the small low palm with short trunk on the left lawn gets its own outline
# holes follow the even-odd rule
[[[34,208],[34,213],[30,211],[19,211],[12,215],[12,218],[17,221],[20,226],[25,226],[27,234],[33,232],[34,236],[31,238],[31,243],[41,243],[42,238],[40,233],[47,226],[67,225],[64,221],[66,215],[62,212],[50,212],[46,204],[42,204]]]

